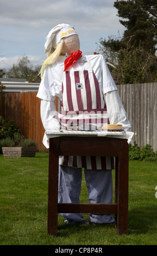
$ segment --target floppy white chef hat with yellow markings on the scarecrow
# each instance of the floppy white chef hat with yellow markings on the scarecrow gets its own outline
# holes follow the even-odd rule
[[[67,36],[77,34],[74,27],[68,24],[59,24],[48,33],[46,37],[46,43],[45,43],[45,53],[48,57],[51,55],[56,47],[58,46],[59,42],[66,38]]]

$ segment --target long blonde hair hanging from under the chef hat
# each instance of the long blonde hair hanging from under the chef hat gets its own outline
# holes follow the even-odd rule
[[[59,42],[58,46],[56,47],[55,51],[51,55],[49,55],[47,57],[47,59],[45,60],[45,62],[42,64],[41,70],[40,70],[40,73],[39,73],[39,75],[41,76],[41,80],[42,80],[42,77],[43,77],[43,71],[45,70],[46,66],[53,65],[56,62],[56,59],[58,59],[58,57],[60,56],[63,44],[64,44],[64,41],[61,40]]]

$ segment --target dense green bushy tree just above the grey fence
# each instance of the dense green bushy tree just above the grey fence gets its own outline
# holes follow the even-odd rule
[[[141,46],[128,47],[118,51],[116,68],[112,68],[115,82],[119,84],[157,82],[156,57]]]

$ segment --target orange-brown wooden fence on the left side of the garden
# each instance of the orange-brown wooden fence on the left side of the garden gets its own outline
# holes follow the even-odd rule
[[[40,118],[40,99],[36,94],[37,92],[1,94],[0,115],[6,120],[14,120],[23,135],[37,142],[37,149],[44,152],[48,150],[42,143],[45,130]],[[58,107],[57,100],[55,103]]]

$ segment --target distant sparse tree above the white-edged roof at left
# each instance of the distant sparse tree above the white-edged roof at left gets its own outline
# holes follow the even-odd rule
[[[40,66],[30,63],[28,56],[24,56],[18,60],[17,65],[13,64],[12,68],[6,73],[9,78],[26,78],[29,82],[40,82]]]

